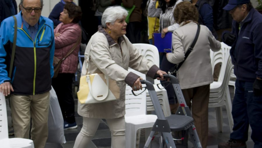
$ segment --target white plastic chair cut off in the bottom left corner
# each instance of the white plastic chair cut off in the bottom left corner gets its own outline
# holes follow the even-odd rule
[[[6,100],[3,93],[0,93],[0,145],[1,148],[34,148],[33,140],[8,138]]]

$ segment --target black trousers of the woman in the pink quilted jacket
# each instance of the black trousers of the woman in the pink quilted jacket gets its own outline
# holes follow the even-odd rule
[[[75,102],[72,95],[74,73],[59,73],[52,78],[52,86],[56,91],[63,119],[68,123],[75,122]]]

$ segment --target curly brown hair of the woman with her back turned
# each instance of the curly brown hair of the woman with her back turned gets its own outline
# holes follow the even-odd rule
[[[183,21],[193,20],[198,21],[197,8],[188,1],[183,1],[176,5],[174,10],[175,21],[180,24]]]

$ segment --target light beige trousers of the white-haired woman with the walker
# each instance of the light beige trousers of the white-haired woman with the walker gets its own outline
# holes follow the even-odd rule
[[[83,117],[83,127],[75,140],[74,148],[86,148],[95,135],[101,119]],[[113,148],[125,148],[125,117],[106,119],[111,131]]]

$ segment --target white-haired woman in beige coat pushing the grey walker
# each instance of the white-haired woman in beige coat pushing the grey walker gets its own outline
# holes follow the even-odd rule
[[[112,133],[113,148],[125,147],[125,86],[128,84],[134,91],[142,89],[141,78],[128,71],[131,67],[150,77],[164,71],[148,62],[125,36],[125,17],[128,12],[121,6],[108,7],[102,15],[102,25],[98,26],[87,44],[85,59],[90,50],[88,72],[104,73],[115,80],[120,88],[120,99],[96,104],[80,104],[78,114],[83,116],[83,127],[78,134],[74,148],[84,148],[95,135],[101,119],[106,119]],[[86,75],[86,60],[81,75]]]

